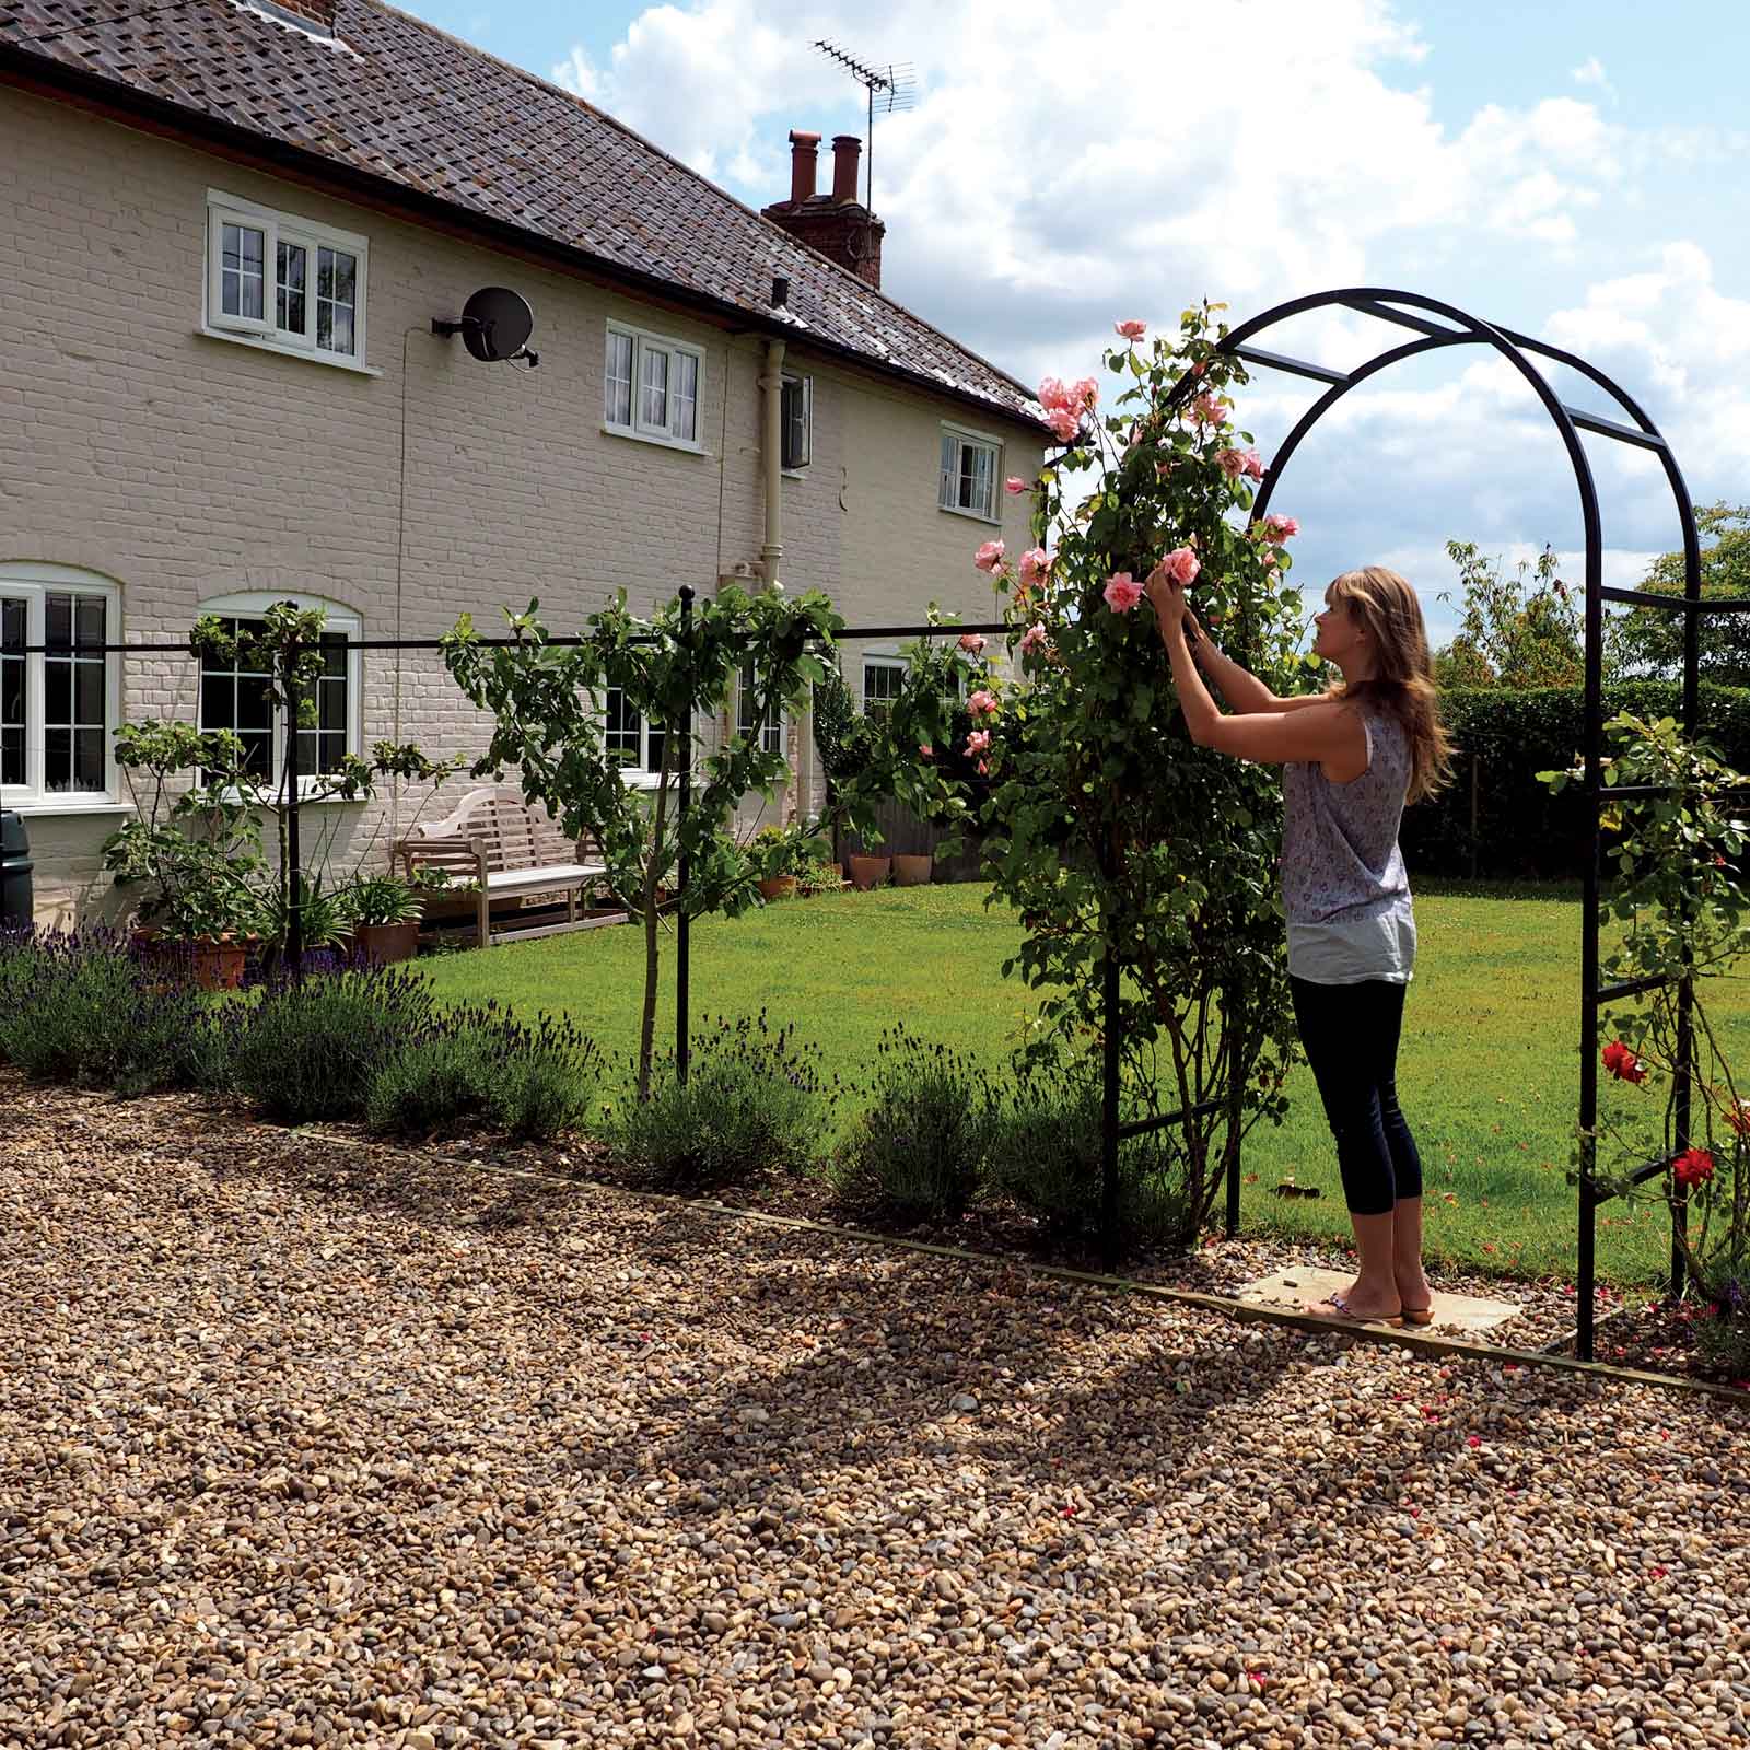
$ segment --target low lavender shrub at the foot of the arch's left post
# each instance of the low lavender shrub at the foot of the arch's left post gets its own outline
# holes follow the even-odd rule
[[[1024,1080],[990,1141],[990,1185],[1062,1239],[1101,1230],[1101,1088],[1087,1076]],[[1166,1132],[1118,1144],[1118,1237],[1125,1248],[1188,1246],[1195,1216]]]

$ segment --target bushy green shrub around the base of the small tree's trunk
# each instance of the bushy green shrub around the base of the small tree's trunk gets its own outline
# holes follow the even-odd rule
[[[838,1099],[791,1029],[719,1020],[693,1036],[690,1076],[672,1054],[656,1064],[648,1099],[628,1099],[602,1127],[614,1157],[667,1185],[732,1185],[775,1167],[803,1172],[814,1138]]]

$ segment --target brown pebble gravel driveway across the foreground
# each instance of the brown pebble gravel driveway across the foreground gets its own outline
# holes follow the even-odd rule
[[[7,1088],[18,1096],[18,1085]],[[1750,1416],[7,1097],[0,1745],[1750,1745]]]

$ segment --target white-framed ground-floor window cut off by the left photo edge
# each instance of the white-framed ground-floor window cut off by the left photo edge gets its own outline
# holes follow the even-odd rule
[[[0,565],[0,802],[116,800],[121,588],[74,565]],[[47,648],[44,648],[47,646]]]

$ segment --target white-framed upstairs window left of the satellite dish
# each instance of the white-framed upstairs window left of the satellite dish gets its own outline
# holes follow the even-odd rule
[[[368,256],[354,231],[208,189],[203,326],[222,340],[362,368]]]

